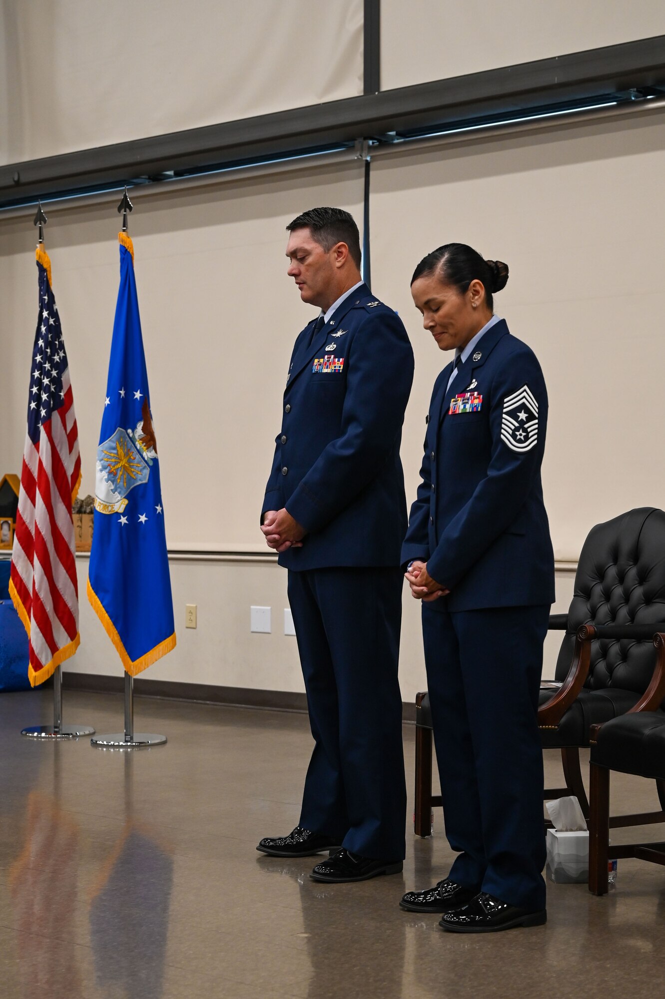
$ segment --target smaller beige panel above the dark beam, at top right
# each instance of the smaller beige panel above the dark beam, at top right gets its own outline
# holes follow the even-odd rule
[[[381,0],[381,87],[665,34],[662,0]]]

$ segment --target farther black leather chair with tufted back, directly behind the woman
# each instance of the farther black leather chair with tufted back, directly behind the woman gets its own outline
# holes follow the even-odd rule
[[[540,692],[538,723],[543,748],[561,750],[565,787],[545,798],[574,794],[588,818],[579,749],[593,725],[643,702],[656,659],[653,635],[665,631],[665,512],[652,506],[622,513],[591,529],[584,542],[567,614],[549,626],[565,632],[556,663],[556,690]],[[414,831],[429,835],[431,713],[426,691],[415,698]],[[610,825],[614,825],[610,819]]]

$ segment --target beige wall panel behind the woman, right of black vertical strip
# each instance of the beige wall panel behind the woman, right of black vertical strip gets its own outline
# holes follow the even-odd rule
[[[594,523],[665,506],[664,125],[653,112],[373,160],[372,290],[398,310],[416,356],[402,446],[409,500],[448,360],[422,330],[410,276],[457,241],[508,264],[496,312],[544,371],[556,557],[576,559]]]

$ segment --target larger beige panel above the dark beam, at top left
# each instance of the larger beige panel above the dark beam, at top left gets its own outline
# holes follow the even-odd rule
[[[362,0],[0,0],[0,162],[362,93]]]

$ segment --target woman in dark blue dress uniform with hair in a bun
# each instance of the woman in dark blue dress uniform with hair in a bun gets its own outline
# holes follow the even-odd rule
[[[542,499],[547,393],[526,344],[493,314],[505,264],[450,243],[411,279],[424,329],[453,351],[431,397],[402,562],[422,601],[446,878],[401,907],[455,932],[546,920],[537,701],[554,599]]]

